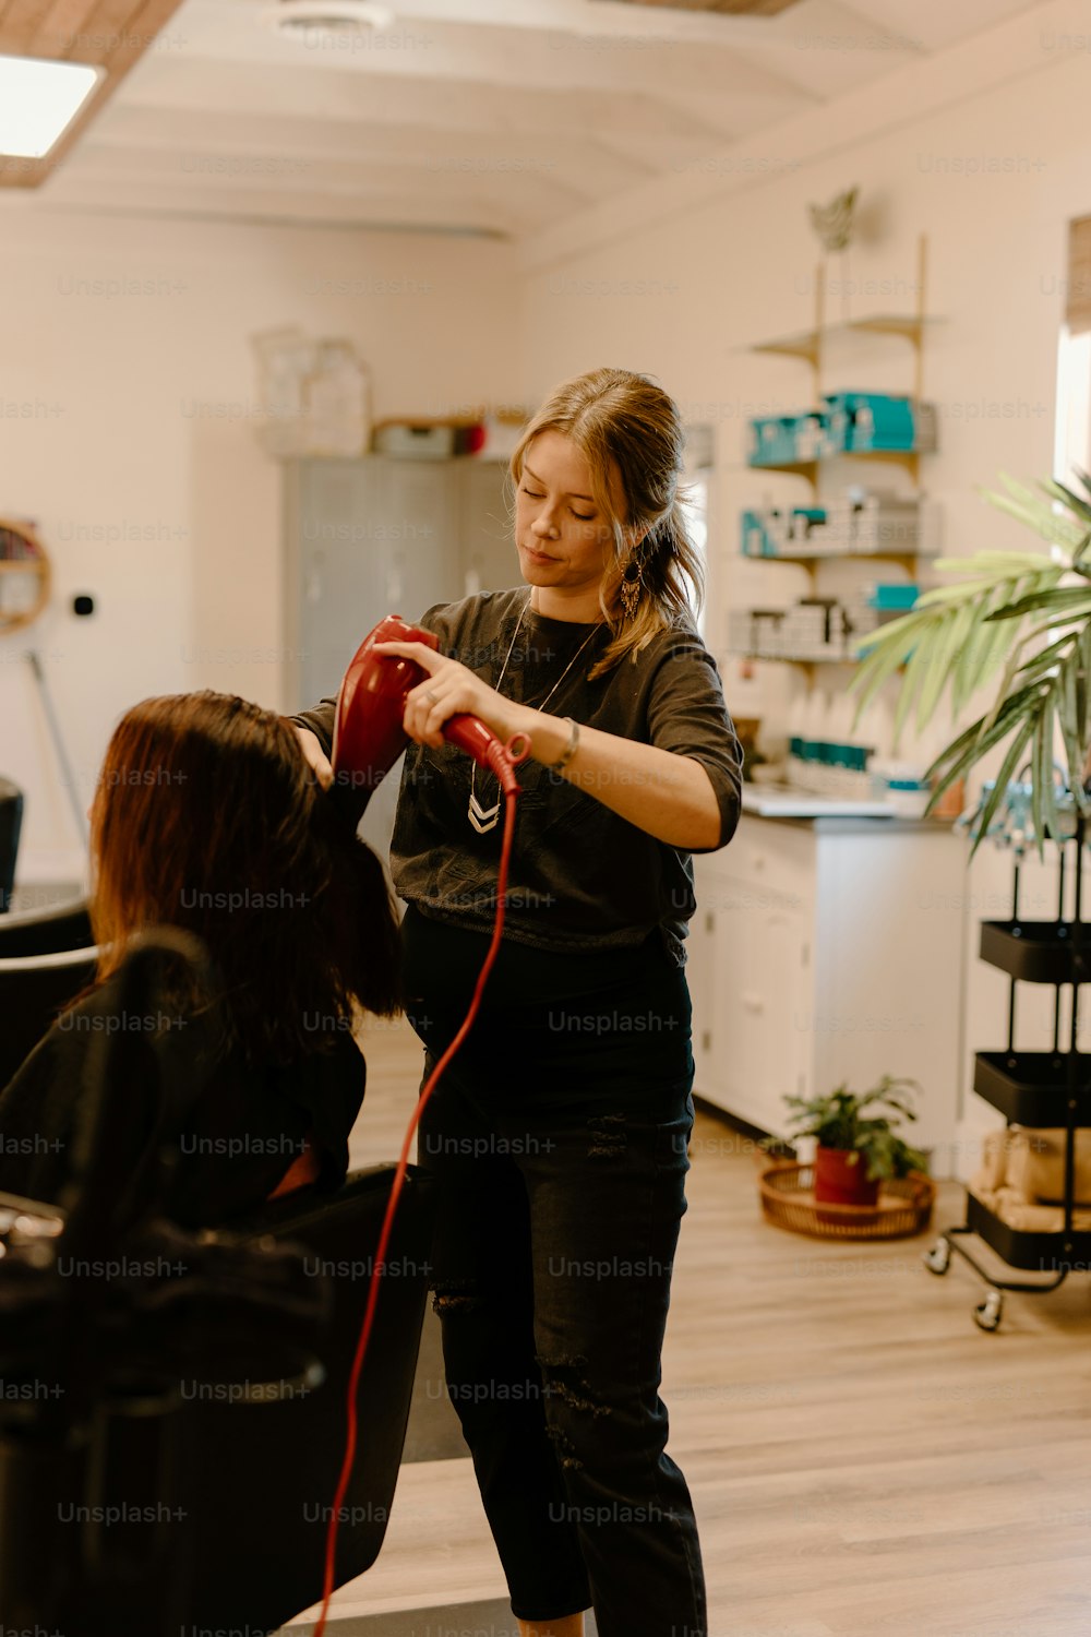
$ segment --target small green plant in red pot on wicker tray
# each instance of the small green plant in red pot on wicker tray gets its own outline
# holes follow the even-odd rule
[[[795,1136],[818,1138],[815,1152],[815,1198],[826,1205],[875,1205],[885,1177],[908,1177],[926,1170],[927,1159],[895,1130],[916,1120],[905,1098],[919,1089],[916,1080],[883,1074],[867,1092],[837,1085],[821,1097],[785,1097]],[[867,1113],[867,1110],[891,1110]]]

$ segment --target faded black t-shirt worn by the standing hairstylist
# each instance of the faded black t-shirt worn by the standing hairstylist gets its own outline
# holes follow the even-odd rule
[[[430,607],[420,624],[437,634],[442,653],[489,686],[499,683],[509,699],[692,756],[712,781],[721,817],[718,845],[726,846],[739,820],[743,751],[715,660],[697,630],[664,630],[635,658],[589,681],[587,671],[610,642],[608,627],[546,619],[530,609],[528,596],[525,586],[479,593]],[[559,686],[548,697],[554,683]],[[293,720],[317,733],[329,751],[332,699]],[[525,761],[517,778],[522,796],[505,936],[563,953],[640,945],[659,927],[667,951],[682,966],[685,925],[695,909],[690,853],[658,841],[535,761]],[[425,915],[487,930],[496,909],[502,815],[486,835],[473,828],[466,812],[471,779],[479,802],[492,805],[494,776],[483,769],[474,774],[461,750],[409,745],[391,874],[399,895]]]

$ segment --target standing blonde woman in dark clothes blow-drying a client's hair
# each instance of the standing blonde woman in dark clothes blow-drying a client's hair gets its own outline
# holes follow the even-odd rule
[[[429,609],[391,866],[425,1072],[489,946],[491,774],[458,710],[532,740],[505,936],[425,1108],[447,1385],[525,1637],[705,1637],[685,1480],[659,1398],[694,1120],[689,855],[731,840],[741,755],[692,622],[676,404],[643,375],[559,386],[512,457],[525,586]],[[296,719],[327,748],[327,706]],[[326,778],[319,743],[304,737]]]

